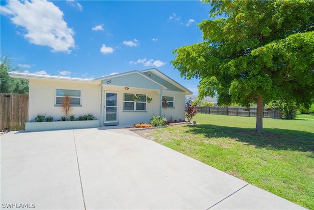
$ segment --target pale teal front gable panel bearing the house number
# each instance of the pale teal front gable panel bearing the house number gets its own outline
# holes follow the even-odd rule
[[[118,77],[104,78],[102,84],[108,86],[113,85],[154,90],[161,90],[163,88],[161,84],[159,85],[137,72]]]

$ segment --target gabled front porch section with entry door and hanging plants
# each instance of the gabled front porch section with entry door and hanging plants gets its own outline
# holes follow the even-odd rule
[[[100,85],[100,120],[104,126],[148,123],[154,114],[161,115],[162,91],[166,89],[138,71],[105,77]],[[134,95],[139,97],[137,101]]]

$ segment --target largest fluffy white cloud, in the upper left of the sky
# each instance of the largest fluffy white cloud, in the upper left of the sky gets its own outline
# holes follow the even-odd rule
[[[1,14],[26,29],[24,37],[32,44],[49,46],[52,52],[70,53],[75,48],[74,31],[67,27],[63,12],[51,1],[7,1]]]

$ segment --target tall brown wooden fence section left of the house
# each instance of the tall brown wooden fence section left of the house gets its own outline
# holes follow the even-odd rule
[[[28,121],[28,94],[2,93],[0,131],[25,129]]]

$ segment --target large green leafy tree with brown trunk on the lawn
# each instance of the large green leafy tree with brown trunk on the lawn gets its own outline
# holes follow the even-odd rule
[[[200,98],[217,95],[218,105],[256,103],[256,131],[262,131],[268,102],[312,103],[314,1],[205,2],[212,9],[211,19],[198,24],[203,42],[175,49],[171,61],[181,76],[200,79]]]

